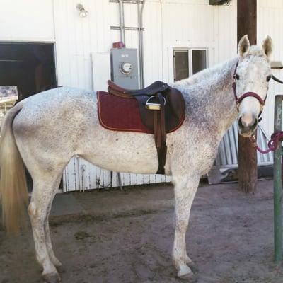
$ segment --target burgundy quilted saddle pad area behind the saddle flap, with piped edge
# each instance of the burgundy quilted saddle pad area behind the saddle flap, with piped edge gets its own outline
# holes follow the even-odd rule
[[[144,132],[153,134],[141,122],[137,100],[97,92],[100,125],[112,131]]]

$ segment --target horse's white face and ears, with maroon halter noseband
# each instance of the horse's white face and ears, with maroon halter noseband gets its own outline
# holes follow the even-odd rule
[[[248,35],[238,44],[238,66],[234,74],[234,95],[238,106],[238,131],[243,137],[250,137],[258,126],[271,79],[269,57],[272,40],[266,36],[262,47],[250,46]]]

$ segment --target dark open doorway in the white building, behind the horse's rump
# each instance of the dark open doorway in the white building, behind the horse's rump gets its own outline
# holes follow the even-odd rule
[[[18,101],[57,87],[54,44],[0,42],[0,86],[16,87]],[[26,175],[31,191],[33,180]]]

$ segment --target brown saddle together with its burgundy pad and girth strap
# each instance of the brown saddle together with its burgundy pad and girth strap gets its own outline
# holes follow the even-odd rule
[[[158,155],[157,173],[164,174],[166,134],[178,129],[185,118],[182,93],[162,81],[155,81],[139,90],[121,88],[108,81],[108,93],[98,91],[97,95],[99,120],[103,127],[154,134]],[[109,114],[106,108],[110,108],[111,103],[117,111],[112,108]]]

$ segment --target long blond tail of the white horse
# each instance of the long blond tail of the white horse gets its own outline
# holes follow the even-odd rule
[[[3,224],[7,233],[18,233],[24,226],[28,188],[25,168],[13,134],[13,120],[23,108],[23,102],[8,111],[0,138],[0,202]]]

